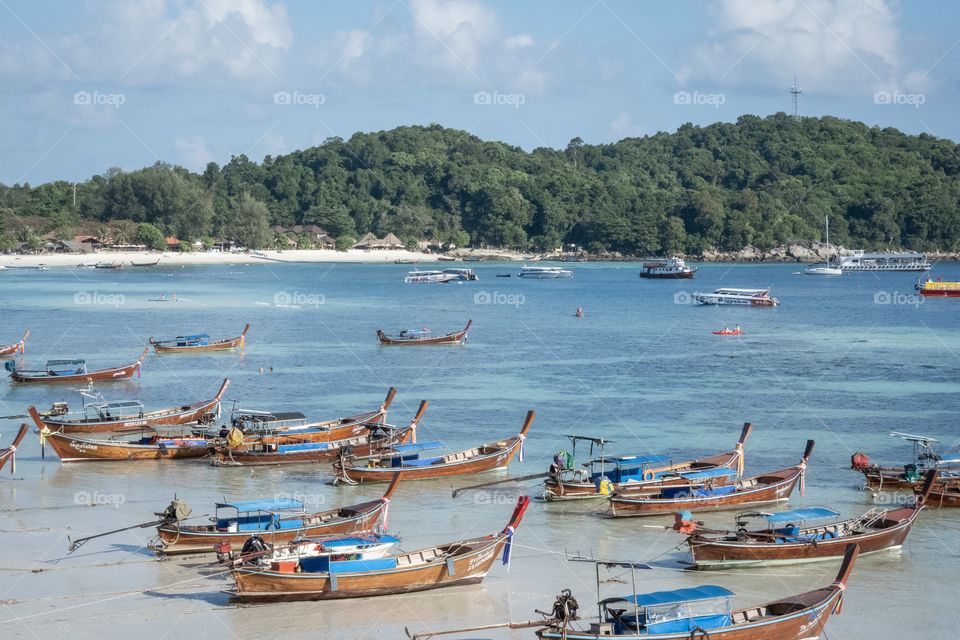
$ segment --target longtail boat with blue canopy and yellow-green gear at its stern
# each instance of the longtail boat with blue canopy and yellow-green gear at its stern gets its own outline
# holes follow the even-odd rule
[[[753,426],[744,423],[740,439],[732,451],[707,458],[673,462],[665,455],[604,456],[604,447],[610,443],[602,438],[587,436],[567,436],[573,442],[573,454],[560,452],[554,458],[547,475],[545,500],[579,500],[585,498],[603,498],[611,493],[636,492],[649,487],[688,484],[696,479],[700,472],[713,469],[736,469],[737,474],[718,474],[715,482],[723,478],[735,477],[743,472],[743,446],[750,437]],[[573,467],[578,441],[587,441],[600,449],[600,457],[583,464],[582,469]]]

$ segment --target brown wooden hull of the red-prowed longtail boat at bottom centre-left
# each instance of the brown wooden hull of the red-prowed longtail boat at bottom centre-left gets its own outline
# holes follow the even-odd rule
[[[489,539],[467,541],[477,547],[447,561],[423,565],[398,566],[380,571],[337,573],[279,573],[253,568],[235,569],[234,597],[242,602],[284,600],[332,600],[364,598],[414,591],[426,591],[483,581],[507,538],[503,534]],[[464,543],[460,543],[464,544]],[[408,555],[415,555],[408,554]]]

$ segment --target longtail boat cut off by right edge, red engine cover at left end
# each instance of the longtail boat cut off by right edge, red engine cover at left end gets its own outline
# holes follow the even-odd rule
[[[956,470],[945,468],[960,463],[960,454],[941,456],[933,448],[934,444],[940,443],[936,438],[899,431],[891,431],[890,435],[913,445],[913,462],[900,467],[882,467],[871,464],[869,456],[862,451],[854,453],[850,458],[850,468],[863,474],[868,489],[913,491],[920,487],[923,475],[929,469],[938,469],[941,480],[960,478]]]

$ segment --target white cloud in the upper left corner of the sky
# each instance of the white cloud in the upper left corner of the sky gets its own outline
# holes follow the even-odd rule
[[[44,33],[47,46],[0,44],[0,74],[153,86],[272,81],[293,40],[286,8],[275,0],[92,0],[89,6],[95,26]]]

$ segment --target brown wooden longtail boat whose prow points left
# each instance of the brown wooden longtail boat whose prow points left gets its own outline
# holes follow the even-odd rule
[[[212,448],[205,438],[190,436],[150,435],[135,440],[79,438],[51,431],[46,426],[40,429],[40,444],[49,444],[61,462],[202,458]]]

